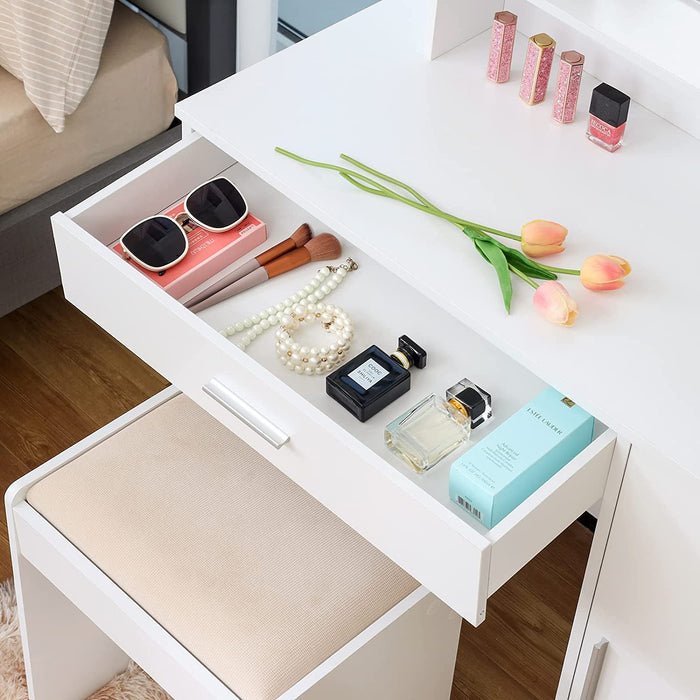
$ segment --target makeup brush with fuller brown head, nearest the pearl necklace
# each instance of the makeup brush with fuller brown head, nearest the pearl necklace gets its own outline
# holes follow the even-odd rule
[[[306,263],[339,258],[341,252],[342,247],[340,241],[331,233],[322,233],[312,238],[302,248],[297,248],[290,253],[281,255],[279,258],[275,258],[269,263],[262,265],[257,270],[250,272],[225,289],[221,289],[216,294],[207,297],[204,301],[200,301],[198,304],[191,306],[190,309],[194,313],[197,313],[224,299],[240,294],[246,289],[267,282],[267,280],[272,277],[277,277],[290,270],[295,270],[297,267],[306,265]]]

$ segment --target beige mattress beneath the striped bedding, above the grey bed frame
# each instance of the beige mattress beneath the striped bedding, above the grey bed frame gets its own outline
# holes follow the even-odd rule
[[[95,82],[57,134],[0,68],[0,214],[168,128],[177,101],[165,37],[116,3]]]

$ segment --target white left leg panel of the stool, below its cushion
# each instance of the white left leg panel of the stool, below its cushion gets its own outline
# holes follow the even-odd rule
[[[31,700],[85,700],[128,656],[21,555],[17,608]]]

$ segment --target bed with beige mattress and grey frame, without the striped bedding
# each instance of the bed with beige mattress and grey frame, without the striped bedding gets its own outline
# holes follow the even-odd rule
[[[63,7],[61,8],[63,10]],[[41,18],[39,18],[41,19]],[[0,68],[0,316],[60,284],[49,217],[180,138],[165,36],[119,2],[94,82],[56,133]]]

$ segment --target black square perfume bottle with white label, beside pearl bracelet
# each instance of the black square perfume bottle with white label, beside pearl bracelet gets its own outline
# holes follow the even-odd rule
[[[410,367],[425,367],[427,354],[407,335],[387,355],[372,345],[326,377],[326,393],[366,421],[411,388]]]

